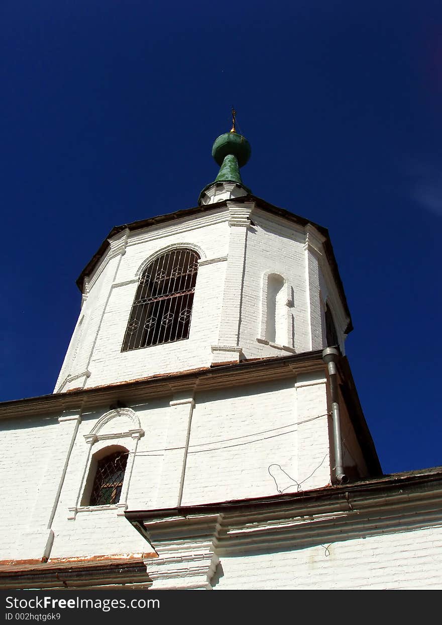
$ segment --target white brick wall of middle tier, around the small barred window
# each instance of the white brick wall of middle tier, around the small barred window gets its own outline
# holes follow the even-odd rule
[[[302,489],[328,484],[327,417],[297,425],[327,412],[322,376],[313,372],[298,376],[298,382],[293,377],[196,392],[193,399],[170,394],[131,406],[144,435],[137,441],[127,507],[179,505],[184,461],[183,505],[297,492],[298,482]],[[85,410],[77,432],[79,412],[62,415],[69,421],[59,422],[57,415],[5,423],[2,449],[7,455],[2,456],[1,469],[7,504],[0,511],[0,524],[6,528],[0,535],[0,560],[42,557],[54,505],[51,557],[149,551],[149,545],[119,516],[123,509],[81,505],[91,454],[110,445],[135,449],[135,439],[124,435],[134,430],[124,411],[115,412],[97,432],[109,439],[91,446],[87,435],[96,431],[94,426],[108,412],[109,406]],[[119,437],[112,437],[116,433]]]

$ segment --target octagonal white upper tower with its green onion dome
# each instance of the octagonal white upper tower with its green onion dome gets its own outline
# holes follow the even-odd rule
[[[351,330],[323,227],[252,196],[230,132],[199,206],[114,228],[79,277],[82,309],[54,392],[289,356]],[[331,342],[330,342],[331,341]]]

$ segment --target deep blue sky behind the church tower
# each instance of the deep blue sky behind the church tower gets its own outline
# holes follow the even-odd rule
[[[440,452],[440,2],[2,0],[0,399],[52,392],[112,226],[243,181],[330,230],[385,472]]]

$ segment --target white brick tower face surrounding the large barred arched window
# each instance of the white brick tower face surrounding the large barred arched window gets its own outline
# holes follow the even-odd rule
[[[209,366],[210,346],[218,338],[228,232],[227,214],[215,211],[197,221],[181,219],[174,226],[134,232],[118,256],[108,260],[107,254],[92,276],[80,314],[79,345],[69,346],[56,392]],[[140,266],[160,249],[183,243],[200,251],[202,261],[219,259],[199,268],[189,339],[122,353]],[[85,371],[90,375],[82,376]],[[79,377],[69,379],[74,376]]]

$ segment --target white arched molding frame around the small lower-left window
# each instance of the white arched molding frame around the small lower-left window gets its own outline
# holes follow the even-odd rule
[[[105,434],[99,434],[101,429],[111,422],[115,417],[125,417],[132,426],[124,432],[107,432]],[[87,449],[86,462],[84,464],[84,471],[82,474],[81,484],[77,492],[76,504],[69,507],[68,520],[74,521],[78,512],[96,512],[103,510],[116,510],[117,516],[124,516],[124,511],[127,509],[127,494],[129,492],[130,477],[132,476],[132,470],[134,468],[135,455],[137,453],[137,446],[139,439],[144,436],[144,430],[140,427],[140,419],[135,412],[130,408],[116,408],[106,412],[92,427],[89,434],[84,434],[85,442],[89,445]],[[132,440],[132,449],[129,449],[129,455],[127,457],[127,464],[124,473],[123,486],[121,489],[120,500],[117,504],[106,504],[104,506],[82,506],[80,504],[82,496],[87,486],[87,479],[89,472],[91,471],[92,456],[94,455],[94,445],[101,443],[102,441],[114,441],[121,438],[130,438]],[[129,443],[130,444],[130,443]],[[127,447],[126,447],[127,448]],[[104,449],[104,446],[101,446]],[[99,451],[99,449],[97,449]]]

